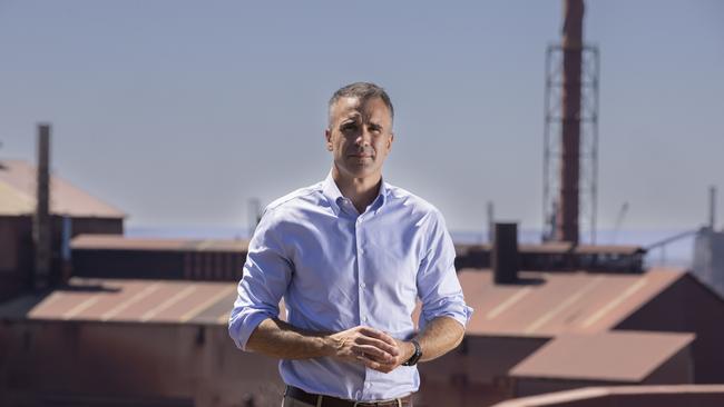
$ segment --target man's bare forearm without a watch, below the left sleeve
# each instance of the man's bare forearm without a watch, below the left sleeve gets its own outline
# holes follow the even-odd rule
[[[263,320],[250,336],[246,347],[280,359],[306,359],[333,353],[325,332],[299,329],[276,318]]]

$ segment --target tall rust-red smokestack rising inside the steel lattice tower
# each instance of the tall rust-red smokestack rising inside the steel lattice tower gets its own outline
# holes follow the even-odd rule
[[[580,168],[580,71],[584,43],[584,1],[564,2],[564,75],[561,97],[560,206],[556,240],[578,244],[578,183]]]

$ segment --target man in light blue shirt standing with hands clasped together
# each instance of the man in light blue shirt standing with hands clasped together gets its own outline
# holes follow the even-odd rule
[[[462,340],[472,309],[442,216],[382,180],[392,120],[376,85],[337,90],[330,175],[272,202],[250,244],[228,330],[241,349],[282,359],[283,406],[411,406],[414,365]]]

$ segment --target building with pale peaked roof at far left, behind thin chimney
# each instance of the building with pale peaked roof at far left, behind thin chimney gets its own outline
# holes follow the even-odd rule
[[[41,177],[42,178],[42,177]],[[126,215],[109,204],[55,175],[49,180],[49,214],[33,219],[38,172],[21,160],[0,160],[0,301],[33,287],[37,266],[35,239],[39,227],[49,234],[47,280],[39,288],[61,284],[69,277],[70,239],[80,234],[123,235]],[[33,237],[35,236],[35,237]],[[46,272],[46,271],[43,271]]]

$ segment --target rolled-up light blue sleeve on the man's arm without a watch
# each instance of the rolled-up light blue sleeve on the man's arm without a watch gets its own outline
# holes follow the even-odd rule
[[[248,337],[264,319],[278,317],[278,304],[292,275],[274,218],[273,210],[265,211],[254,231],[228,319],[228,335],[242,350],[247,350]]]

